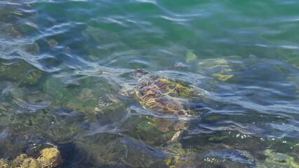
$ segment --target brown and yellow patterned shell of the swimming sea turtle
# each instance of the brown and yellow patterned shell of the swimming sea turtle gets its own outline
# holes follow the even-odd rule
[[[186,98],[196,90],[186,83],[168,78],[151,77],[135,92],[140,104],[148,110],[174,116],[189,116]]]

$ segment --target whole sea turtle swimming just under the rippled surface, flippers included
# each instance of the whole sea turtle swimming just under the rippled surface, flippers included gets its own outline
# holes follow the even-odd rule
[[[180,67],[180,64],[175,64],[167,69]],[[182,80],[150,76],[144,69],[135,69],[132,76],[138,79],[135,86],[124,87],[117,94],[105,94],[100,97],[95,111],[101,113],[106,106],[121,102],[120,97],[134,97],[144,109],[161,116],[147,118],[142,127],[154,126],[161,132],[173,131],[173,137],[168,142],[178,140],[180,133],[187,128],[187,118],[195,116],[188,100],[201,97],[197,87]]]

